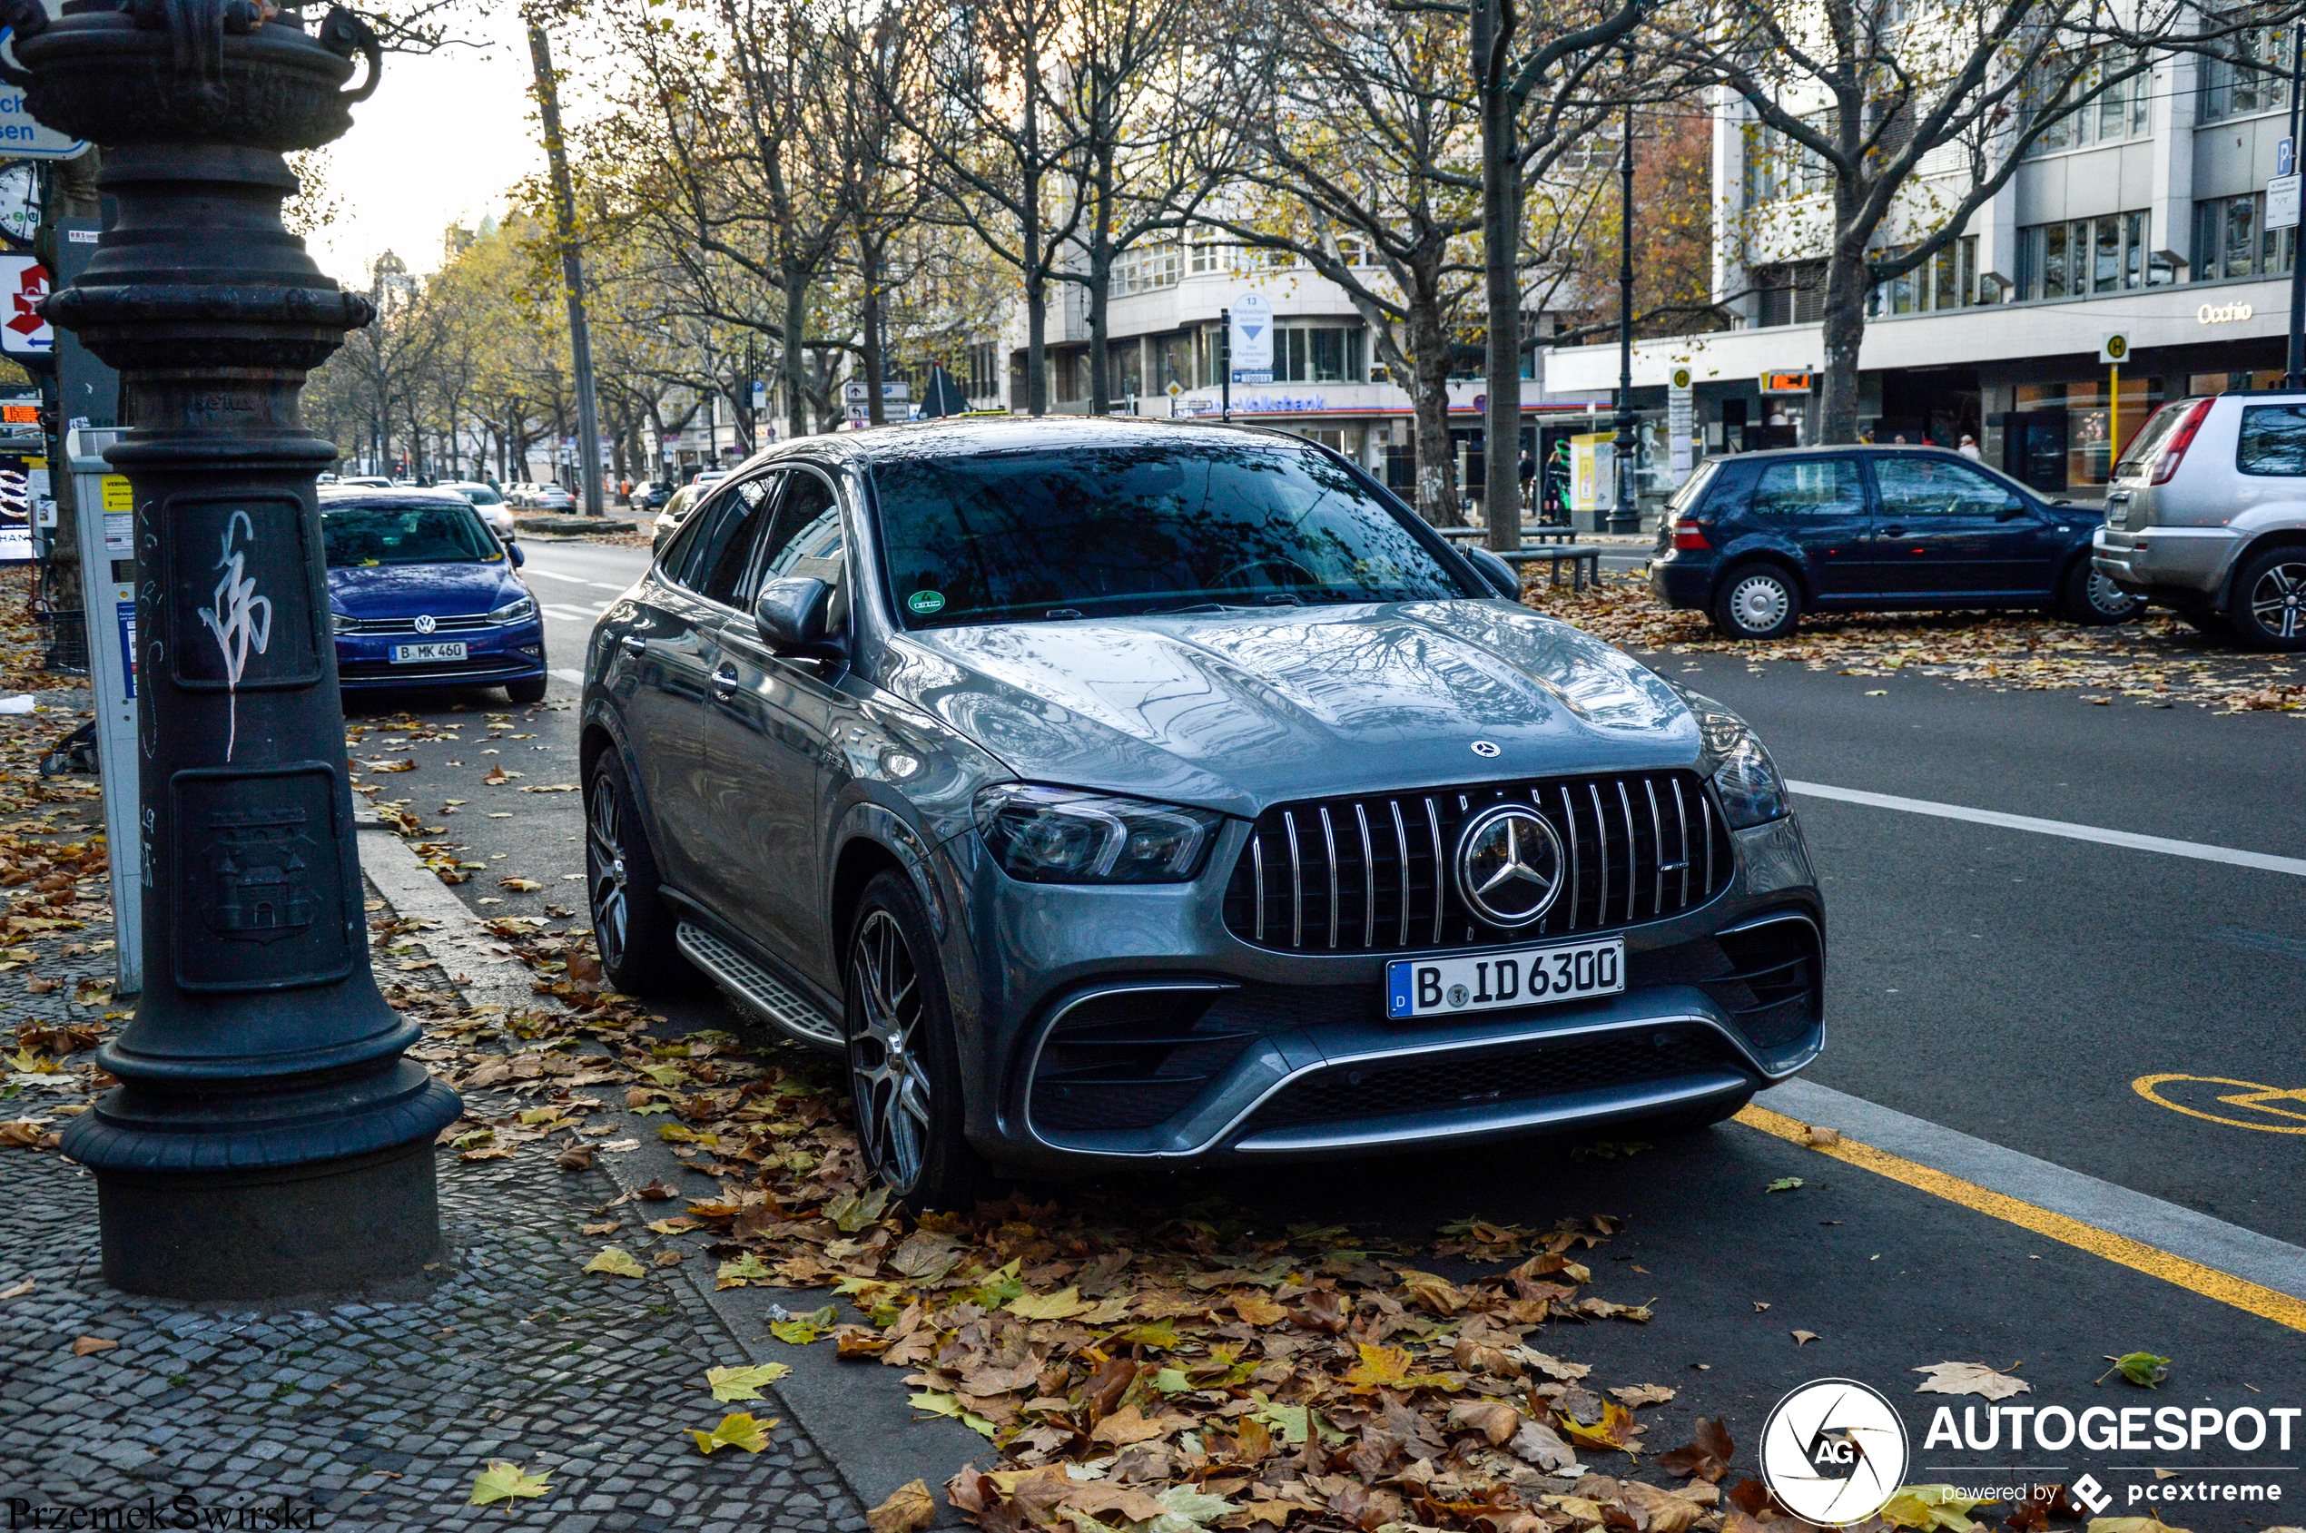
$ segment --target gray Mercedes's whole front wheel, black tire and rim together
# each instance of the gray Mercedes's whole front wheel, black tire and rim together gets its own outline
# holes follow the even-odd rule
[[[865,1164],[913,1213],[971,1210],[992,1183],[962,1136],[962,1067],[945,968],[911,881],[865,885],[849,952],[849,1100]]]

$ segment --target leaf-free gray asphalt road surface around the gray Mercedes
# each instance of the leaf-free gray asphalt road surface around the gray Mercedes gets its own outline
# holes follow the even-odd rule
[[[579,795],[521,795],[477,777],[500,763],[528,786],[574,781],[570,678],[595,613],[646,567],[646,551],[547,542],[526,551],[556,669],[549,701],[517,710],[493,742],[459,728],[459,742],[392,747],[385,754],[420,768],[383,781],[429,823],[450,825],[468,858],[547,885],[517,894],[475,876],[461,897],[521,913],[560,904],[581,920],[581,883],[567,878],[583,867]],[[1743,712],[1796,781],[2306,858],[2299,717],[2092,708],[2071,692],[1992,694],[1718,655],[1656,664]],[[387,724],[399,708],[466,724],[459,708],[500,712],[503,694],[364,698],[355,719]],[[514,738],[526,733],[535,738]],[[390,735],[364,742],[380,738]],[[1831,920],[1829,1049],[1808,1079],[2306,1245],[2297,1132],[2306,1130],[2306,878],[1815,795],[1799,800],[1799,814]],[[664,1010],[671,1030],[743,1026],[713,996]],[[2188,1116],[2140,1095],[2135,1083],[2156,1074],[2225,1083],[2156,1088],[2209,1113]],[[2221,1102],[2230,1095],[2262,1100]],[[1803,1185],[1764,1192],[1785,1176]],[[2172,1508],[2170,1521],[2198,1533],[2299,1521],[2290,1503],[2306,1496],[2297,1473],[2306,1425],[2290,1455],[2271,1441],[2255,1455],[2221,1452],[2216,1441],[2184,1452],[1926,1450],[1926,1406],[1937,1397],[1916,1402],[1909,1369],[1930,1362],[2022,1365],[2036,1390],[2027,1404],[2075,1411],[2306,1404],[2306,1332],[1746,1125],[1619,1160],[1508,1148],[1370,1162],[1351,1178],[1328,1169],[1192,1178],[1204,1185],[1275,1222],[1351,1217],[1402,1233],[1467,1213],[1536,1226],[1628,1217],[1596,1263],[1600,1291],[1656,1298],[1658,1319],[1545,1344],[1600,1365],[1612,1383],[1681,1388],[1676,1402],[1644,1411],[1656,1415],[1653,1448],[1688,1441],[1688,1420],[1713,1413],[1750,1445],[1785,1388],[1847,1376],[1905,1406],[1909,1478],[1990,1478],[1992,1466],[2025,1464],[2036,1480],[2071,1480],[2089,1468],[2119,1498],[2142,1482],[2126,1468],[2168,1466],[2191,1480],[2186,1471],[2225,1466],[2205,1475],[2235,1480],[2241,1466],[2285,1487],[2278,1512],[2248,1508],[2244,1521],[2235,1505]],[[1796,1344],[1794,1330],[1817,1339]],[[2110,1353],[2138,1349],[2177,1360],[2170,1388],[2149,1397],[2092,1383]],[[2126,1503],[2110,1515],[2145,1510]]]

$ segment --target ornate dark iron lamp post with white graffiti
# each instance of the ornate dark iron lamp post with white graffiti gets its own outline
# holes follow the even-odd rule
[[[118,214],[42,304],[120,369],[136,539],[143,996],[65,1127],[104,1279],[187,1300],[420,1286],[457,1093],[369,973],[304,376],[376,309],[281,226],[281,159],[351,129],[351,12],[12,0],[25,108],[101,141]],[[150,25],[145,25],[150,21]],[[367,83],[344,92],[353,55]],[[18,76],[12,76],[18,78]],[[122,858],[122,867],[136,860]]]

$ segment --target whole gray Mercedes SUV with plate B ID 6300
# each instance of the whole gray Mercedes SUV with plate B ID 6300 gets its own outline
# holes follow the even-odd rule
[[[1785,784],[1351,461],[1169,422],[782,443],[602,616],[588,890],[994,1166],[1711,1123],[1824,1035]]]

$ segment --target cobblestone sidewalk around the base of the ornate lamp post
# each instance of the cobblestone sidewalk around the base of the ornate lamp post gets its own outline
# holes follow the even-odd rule
[[[600,1173],[443,1150],[454,1254],[431,1298],[267,1314],[113,1293],[97,1277],[95,1180],[55,1155],[5,1169],[0,1293],[32,1289],[0,1302],[0,1498],[293,1512],[221,1526],[865,1526],[791,1422],[763,1452],[692,1445],[683,1429],[747,1409],[703,1381],[747,1353],[676,1275],[613,1298],[581,1275],[600,1243],[576,1226],[613,1196]],[[775,1402],[749,1409],[766,1418]],[[547,1475],[549,1494],[510,1515],[468,1505],[489,1459]]]

